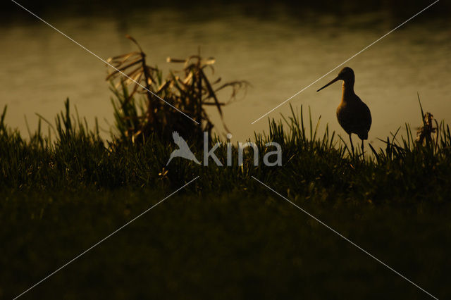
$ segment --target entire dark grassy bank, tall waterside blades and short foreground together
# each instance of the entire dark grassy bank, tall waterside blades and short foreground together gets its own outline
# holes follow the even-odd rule
[[[451,295],[451,135],[391,136],[352,156],[293,113],[233,166],[166,162],[171,142],[106,142],[66,111],[30,139],[0,122],[0,299],[11,299],[164,196],[199,178],[24,295],[29,299],[426,299],[257,177],[424,289]],[[427,132],[426,132],[427,133]],[[432,132],[430,132],[432,133]],[[430,135],[431,136],[431,135]],[[262,165],[278,142],[283,165]],[[212,142],[213,143],[213,142]],[[190,145],[202,160],[202,149]],[[197,150],[196,150],[197,149]],[[369,151],[369,148],[366,148]],[[216,155],[225,163],[226,145]]]

